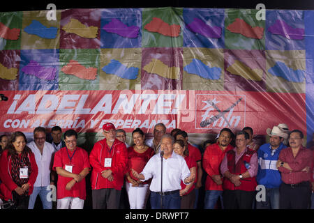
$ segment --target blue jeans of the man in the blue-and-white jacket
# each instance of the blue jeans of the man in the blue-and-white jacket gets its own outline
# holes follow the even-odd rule
[[[256,209],[279,209],[280,192],[278,188],[266,188],[266,201],[256,201]]]

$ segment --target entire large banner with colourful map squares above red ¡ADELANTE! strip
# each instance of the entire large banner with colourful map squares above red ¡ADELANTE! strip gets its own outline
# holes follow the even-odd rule
[[[0,132],[313,132],[313,11],[110,8],[0,13]],[[50,12],[53,13],[53,12]]]

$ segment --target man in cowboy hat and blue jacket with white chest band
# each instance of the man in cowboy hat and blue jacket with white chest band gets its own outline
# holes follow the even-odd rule
[[[266,199],[265,201],[257,201],[256,208],[279,209],[279,187],[282,181],[276,163],[281,150],[287,147],[283,144],[283,140],[287,139],[288,135],[281,131],[278,126],[274,126],[272,129],[267,128],[266,132],[270,137],[269,143],[260,146],[257,151],[258,171],[256,177],[257,183],[266,188]]]

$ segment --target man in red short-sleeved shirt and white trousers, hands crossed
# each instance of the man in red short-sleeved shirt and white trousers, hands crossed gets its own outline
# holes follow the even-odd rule
[[[85,176],[89,174],[89,155],[77,147],[75,130],[64,132],[66,147],[54,155],[53,169],[57,171],[57,209],[83,209],[86,198]]]

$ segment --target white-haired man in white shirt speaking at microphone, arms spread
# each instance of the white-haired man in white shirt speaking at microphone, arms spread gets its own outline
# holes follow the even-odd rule
[[[195,174],[190,174],[184,157],[173,153],[173,144],[174,138],[170,134],[164,134],[160,140],[160,153],[151,157],[142,173],[138,174],[131,169],[133,176],[142,181],[152,178],[149,187],[152,209],[180,209],[181,180],[186,185],[195,180]],[[163,174],[161,174],[161,162],[163,162]]]

